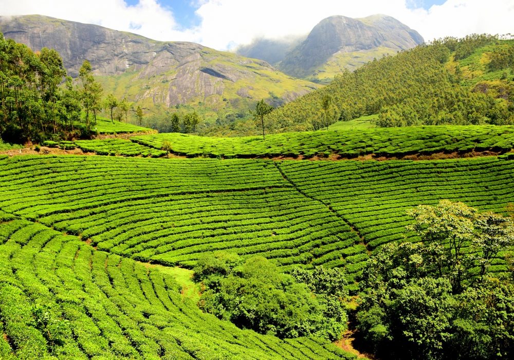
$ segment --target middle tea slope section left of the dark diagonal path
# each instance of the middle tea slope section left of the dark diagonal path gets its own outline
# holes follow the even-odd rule
[[[330,260],[341,266],[365,253],[351,227],[273,161],[20,156],[2,164],[0,208],[125,257],[193,265],[225,249],[321,264],[338,249],[348,259]]]

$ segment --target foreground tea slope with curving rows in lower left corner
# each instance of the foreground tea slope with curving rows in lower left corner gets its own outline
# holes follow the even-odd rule
[[[201,313],[159,267],[0,211],[0,358],[345,358]],[[45,305],[50,326],[34,319]]]

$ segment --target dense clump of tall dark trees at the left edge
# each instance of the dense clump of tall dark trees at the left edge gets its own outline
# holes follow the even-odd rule
[[[71,123],[58,121],[62,110],[69,110],[68,94],[59,87],[65,76],[55,50],[43,48],[36,55],[0,33],[0,136],[37,142],[71,130]]]

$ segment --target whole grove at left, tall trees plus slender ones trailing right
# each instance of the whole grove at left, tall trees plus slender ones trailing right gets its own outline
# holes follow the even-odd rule
[[[128,124],[119,124],[128,122],[134,104],[102,95],[87,60],[74,82],[57,51],[43,48],[34,53],[0,33],[0,137],[6,142],[89,138],[98,133],[97,115],[102,109],[109,112],[113,125],[117,120],[116,131],[131,132]],[[134,111],[141,123],[141,107]]]

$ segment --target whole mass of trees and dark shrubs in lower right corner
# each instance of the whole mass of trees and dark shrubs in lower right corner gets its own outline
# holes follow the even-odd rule
[[[408,228],[423,242],[390,243],[366,263],[357,313],[362,336],[388,358],[508,356],[514,286],[487,277],[482,264],[492,260],[489,244],[495,255],[512,249],[511,220],[448,201],[409,214],[416,221]]]

